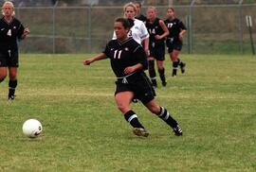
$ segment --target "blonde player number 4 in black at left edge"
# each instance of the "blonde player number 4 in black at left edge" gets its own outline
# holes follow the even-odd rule
[[[0,82],[8,75],[9,70],[9,95],[10,100],[14,99],[17,86],[18,44],[29,34],[19,20],[14,18],[14,6],[6,1],[2,7],[4,17],[0,19]]]

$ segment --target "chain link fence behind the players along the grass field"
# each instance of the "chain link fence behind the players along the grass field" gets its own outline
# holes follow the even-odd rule
[[[147,7],[143,7],[143,13]],[[156,7],[166,19],[167,6]],[[246,15],[252,18],[255,40],[256,4],[174,6],[188,26],[183,53],[249,54]],[[122,7],[18,7],[16,17],[29,26],[20,44],[23,53],[99,53],[113,35],[113,22]]]

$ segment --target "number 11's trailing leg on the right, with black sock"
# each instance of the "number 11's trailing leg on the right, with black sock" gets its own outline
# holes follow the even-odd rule
[[[171,116],[171,113],[168,112],[165,108],[160,107],[156,104],[155,99],[152,99],[150,102],[144,104],[150,112],[155,113],[160,119],[166,122],[173,130],[176,136],[182,135],[182,129],[179,127],[178,123]]]

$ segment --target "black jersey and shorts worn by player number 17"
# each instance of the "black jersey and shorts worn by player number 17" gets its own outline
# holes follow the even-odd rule
[[[180,51],[182,41],[179,40],[179,33],[181,30],[187,30],[186,26],[177,18],[174,18],[174,20],[166,19],[164,23],[170,32],[166,40],[168,52],[171,53],[174,49]]]

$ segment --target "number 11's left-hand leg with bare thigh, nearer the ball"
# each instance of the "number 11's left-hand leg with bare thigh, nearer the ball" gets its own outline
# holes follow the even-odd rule
[[[124,118],[130,125],[134,128],[133,131],[137,136],[147,137],[149,133],[144,129],[141,123],[137,119],[136,112],[132,111],[130,108],[130,103],[134,93],[130,91],[119,92],[115,95],[116,103],[119,111],[124,114]]]

